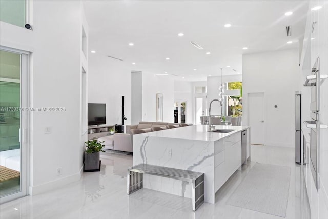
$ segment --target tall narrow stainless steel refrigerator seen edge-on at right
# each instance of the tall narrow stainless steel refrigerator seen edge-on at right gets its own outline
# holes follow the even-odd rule
[[[295,162],[301,164],[301,93],[295,94]]]

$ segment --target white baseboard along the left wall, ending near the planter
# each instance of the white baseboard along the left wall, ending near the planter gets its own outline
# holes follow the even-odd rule
[[[81,166],[79,172],[69,175],[63,178],[58,178],[58,180],[50,181],[48,183],[38,185],[38,186],[29,186],[29,195],[38,195],[44,192],[49,191],[50,189],[60,188],[66,184],[80,180],[83,173],[83,166]]]

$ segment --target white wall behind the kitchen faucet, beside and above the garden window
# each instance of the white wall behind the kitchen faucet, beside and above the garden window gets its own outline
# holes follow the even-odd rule
[[[241,74],[223,75],[222,76],[222,81],[223,81],[223,84],[225,84],[227,82],[241,82],[242,81],[242,76],[241,76]],[[207,109],[208,110],[209,110],[211,101],[213,99],[219,99],[220,98],[220,96],[219,96],[219,92],[220,92],[219,87],[220,87],[220,85],[221,85],[221,76],[207,77]],[[224,87],[224,89],[227,89],[227,87]],[[221,115],[221,107],[220,107],[219,102],[213,102],[212,103],[211,115]]]

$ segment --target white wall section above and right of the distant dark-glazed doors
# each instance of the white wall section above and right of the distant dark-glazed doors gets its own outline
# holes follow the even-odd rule
[[[186,102],[186,123],[193,123],[192,82],[174,81],[174,102],[177,101]]]

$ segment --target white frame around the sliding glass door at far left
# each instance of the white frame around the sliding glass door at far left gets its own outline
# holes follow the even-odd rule
[[[20,191],[0,198],[0,204],[24,197],[28,194],[30,181],[30,52],[0,46],[0,50],[20,54]]]

